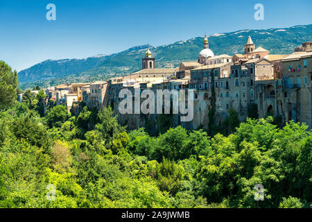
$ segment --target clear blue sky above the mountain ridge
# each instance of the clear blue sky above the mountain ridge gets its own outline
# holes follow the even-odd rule
[[[56,21],[46,20],[46,5]],[[254,5],[264,6],[263,21]],[[0,0],[0,60],[20,71],[47,59],[87,58],[241,29],[311,24],[311,0]]]

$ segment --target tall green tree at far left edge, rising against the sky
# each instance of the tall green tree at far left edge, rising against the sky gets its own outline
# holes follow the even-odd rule
[[[10,107],[17,99],[17,71],[0,61],[0,109]]]

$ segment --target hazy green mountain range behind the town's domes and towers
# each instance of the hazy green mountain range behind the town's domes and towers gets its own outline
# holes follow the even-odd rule
[[[302,42],[312,41],[312,24],[216,33],[208,36],[209,48],[215,55],[243,53],[248,35],[256,47],[262,46],[271,54],[288,54]],[[53,85],[131,74],[141,69],[141,58],[148,47],[156,58],[156,68],[177,67],[182,61],[196,61],[202,42],[203,37],[194,37],[164,46],[135,46],[119,53],[86,59],[46,60],[20,71],[19,83],[21,88],[25,88],[31,84]]]

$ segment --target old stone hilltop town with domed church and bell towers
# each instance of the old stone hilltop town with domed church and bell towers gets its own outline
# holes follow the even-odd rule
[[[66,105],[73,113],[80,112],[81,103],[98,110],[111,106],[119,114],[121,89],[193,89],[193,120],[181,122],[180,114],[176,114],[174,126],[207,128],[209,111],[214,109],[216,123],[222,123],[229,110],[235,110],[239,121],[254,112],[252,115],[259,118],[271,115],[278,117],[281,124],[293,120],[311,128],[312,42],[302,43],[291,55],[272,55],[257,47],[249,36],[244,49],[243,54],[214,55],[205,37],[197,61],[181,62],[172,69],[157,69],[157,58],[146,49],[140,71],[107,81],[48,87],[44,89],[48,96],[45,104],[53,99],[56,105]],[[19,101],[22,96],[19,94]],[[134,129],[146,127],[148,122],[156,125],[156,117],[157,114],[119,114],[119,121]]]

